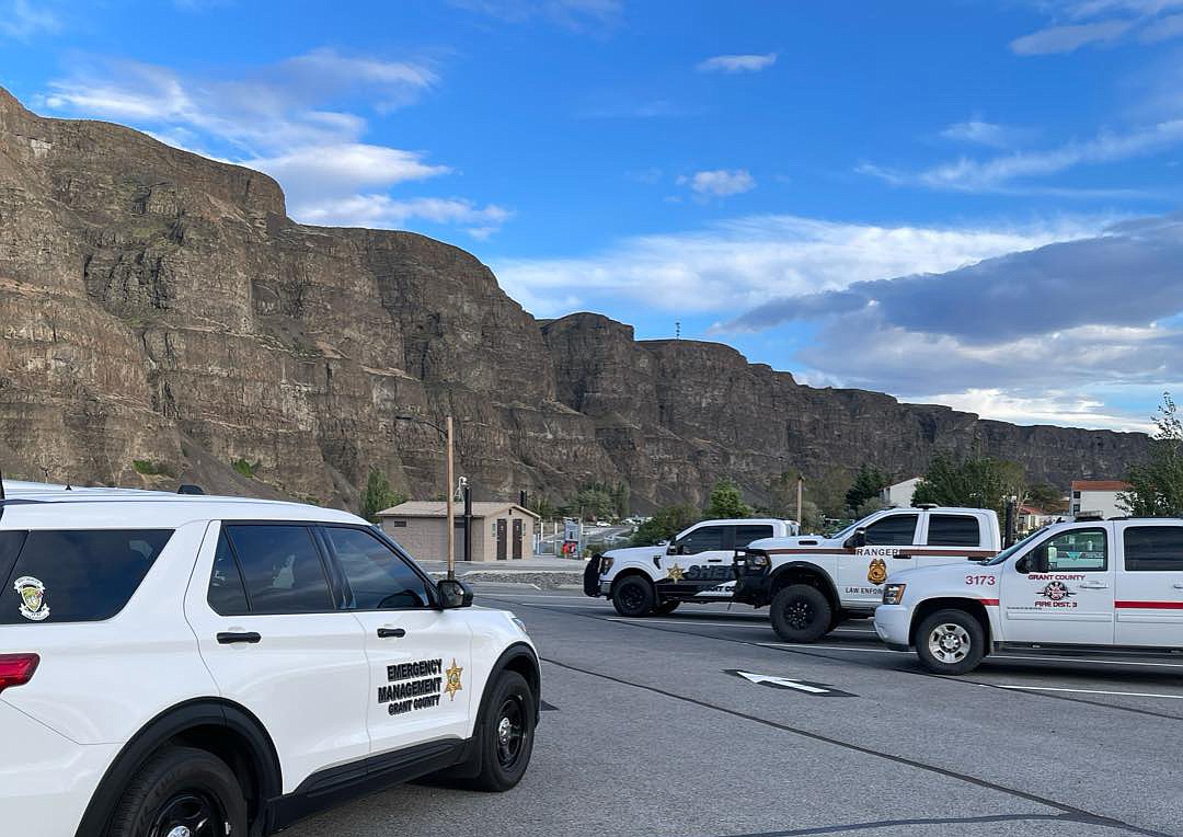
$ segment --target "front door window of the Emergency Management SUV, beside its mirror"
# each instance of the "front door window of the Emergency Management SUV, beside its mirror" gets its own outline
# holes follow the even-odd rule
[[[349,610],[431,606],[422,578],[374,535],[331,526],[323,532],[349,584]]]

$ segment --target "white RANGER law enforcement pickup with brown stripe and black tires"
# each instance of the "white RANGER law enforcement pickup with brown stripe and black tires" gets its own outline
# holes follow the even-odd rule
[[[736,555],[733,598],[768,605],[784,642],[812,643],[845,619],[870,617],[888,574],[935,564],[964,566],[1000,548],[998,516],[988,509],[884,509],[830,537],[754,541]]]

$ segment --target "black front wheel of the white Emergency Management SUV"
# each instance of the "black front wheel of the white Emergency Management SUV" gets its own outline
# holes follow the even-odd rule
[[[522,780],[534,753],[535,697],[525,677],[503,671],[489,693],[480,720],[480,772],[466,785],[474,791],[500,793]]]

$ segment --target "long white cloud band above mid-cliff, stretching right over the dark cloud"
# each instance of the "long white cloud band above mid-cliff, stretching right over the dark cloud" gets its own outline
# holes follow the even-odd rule
[[[535,314],[596,301],[731,318],[778,296],[864,279],[939,272],[1015,250],[1094,233],[1104,221],[964,228],[842,224],[752,215],[703,230],[628,238],[586,258],[504,259],[502,285]],[[567,300],[567,302],[563,302]],[[534,302],[529,302],[534,301]]]

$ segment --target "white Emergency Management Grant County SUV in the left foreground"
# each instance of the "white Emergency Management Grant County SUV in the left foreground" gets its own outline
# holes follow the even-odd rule
[[[539,674],[522,623],[360,517],[8,488],[13,833],[259,837],[426,774],[505,791],[525,772]]]

